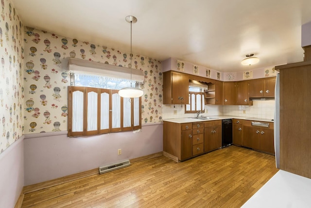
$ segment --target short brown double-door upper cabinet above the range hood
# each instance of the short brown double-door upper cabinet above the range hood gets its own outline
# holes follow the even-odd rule
[[[276,77],[249,80],[249,97],[274,97]]]

